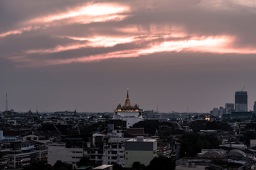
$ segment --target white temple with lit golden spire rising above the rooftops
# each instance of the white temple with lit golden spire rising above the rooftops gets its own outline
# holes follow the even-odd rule
[[[125,100],[124,106],[121,106],[121,103],[114,110],[114,120],[124,120],[127,122],[127,128],[131,127],[135,123],[142,121],[142,109],[139,108],[137,103],[132,106],[131,101],[129,100],[129,93],[127,89],[127,98]]]

